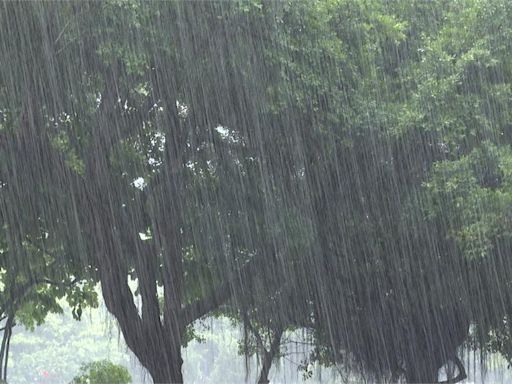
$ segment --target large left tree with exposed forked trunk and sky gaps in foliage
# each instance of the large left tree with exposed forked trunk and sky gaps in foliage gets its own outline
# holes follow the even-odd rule
[[[276,258],[261,221],[269,191],[261,192],[248,137],[257,135],[249,129],[257,112],[240,61],[255,50],[242,8],[2,9],[2,197],[18,236],[10,250],[21,257],[29,225],[41,223],[63,248],[63,265],[78,263],[101,282],[127,345],[156,382],[182,381],[187,326],[240,286],[250,289],[250,277]],[[240,138],[215,130],[234,124]],[[230,172],[240,180],[220,183]],[[237,183],[255,189],[245,197]],[[138,282],[140,313],[128,276]]]

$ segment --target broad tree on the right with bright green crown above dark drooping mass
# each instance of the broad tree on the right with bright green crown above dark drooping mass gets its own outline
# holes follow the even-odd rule
[[[498,59],[506,50],[489,32],[506,24],[508,12],[499,2],[371,8],[317,2],[285,10],[283,45],[275,53],[281,76],[273,89],[285,90],[276,95],[283,132],[292,127],[301,142],[319,240],[308,265],[315,319],[334,361],[352,357],[377,376],[405,374],[410,382],[437,381],[438,369],[453,361],[460,379],[456,350],[469,322],[489,316],[500,322],[508,311],[507,272],[491,281],[488,269],[509,270],[500,261],[509,245],[488,237],[505,228],[498,212],[507,198],[486,204],[485,220],[493,224],[471,224],[473,238],[498,251],[482,269],[464,250],[479,252],[477,244],[452,236],[461,233],[451,227],[463,222],[458,214],[445,205],[435,214],[426,208],[428,180],[441,163],[489,138],[510,144],[500,134],[508,124],[508,102],[501,99],[507,92],[498,91],[508,59]],[[496,166],[476,163],[477,184],[501,184]],[[453,176],[439,183],[463,179]],[[481,215],[478,204],[453,192],[437,204],[468,209],[472,220]],[[482,306],[493,295],[504,295],[499,308]]]

